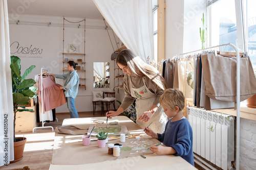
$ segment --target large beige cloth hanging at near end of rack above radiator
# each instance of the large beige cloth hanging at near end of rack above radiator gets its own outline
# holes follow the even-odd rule
[[[205,95],[224,102],[236,102],[237,59],[214,54],[201,56]],[[244,101],[256,93],[256,79],[251,61],[240,59],[240,100]]]

